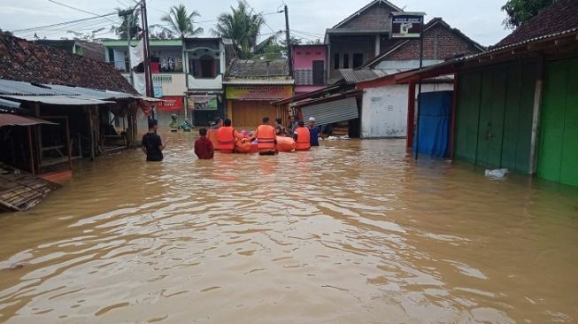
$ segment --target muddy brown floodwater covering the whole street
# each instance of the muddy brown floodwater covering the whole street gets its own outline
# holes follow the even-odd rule
[[[578,322],[578,189],[404,140],[197,161],[170,136],[0,216],[0,322]]]

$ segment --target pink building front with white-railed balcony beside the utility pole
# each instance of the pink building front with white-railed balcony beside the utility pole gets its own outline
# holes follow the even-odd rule
[[[319,90],[327,85],[327,45],[294,45],[291,53],[296,95]]]

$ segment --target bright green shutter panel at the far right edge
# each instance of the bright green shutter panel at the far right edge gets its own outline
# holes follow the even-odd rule
[[[546,64],[538,176],[578,186],[578,58]]]

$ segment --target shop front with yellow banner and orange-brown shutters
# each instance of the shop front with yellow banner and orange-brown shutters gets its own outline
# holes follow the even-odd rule
[[[235,127],[258,127],[263,117],[284,118],[281,108],[271,102],[293,96],[292,81],[289,84],[247,85],[229,83],[226,86],[227,117]]]

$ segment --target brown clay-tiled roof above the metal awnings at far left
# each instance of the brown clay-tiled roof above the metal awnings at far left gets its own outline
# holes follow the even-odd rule
[[[0,35],[0,79],[137,93],[109,63],[7,35]]]

